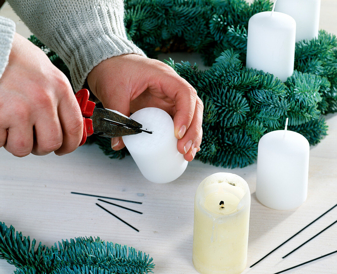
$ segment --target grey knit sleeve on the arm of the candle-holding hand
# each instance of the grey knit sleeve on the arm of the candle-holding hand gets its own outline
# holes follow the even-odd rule
[[[123,0],[7,0],[70,70],[75,91],[101,61],[144,53],[126,37]]]

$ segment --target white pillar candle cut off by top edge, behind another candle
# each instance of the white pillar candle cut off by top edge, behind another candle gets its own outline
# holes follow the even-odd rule
[[[277,0],[275,11],[296,21],[296,42],[318,37],[320,0]]]

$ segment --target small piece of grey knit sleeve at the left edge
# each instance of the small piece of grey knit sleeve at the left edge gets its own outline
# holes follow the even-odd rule
[[[0,16],[0,78],[7,64],[15,32],[15,23]]]

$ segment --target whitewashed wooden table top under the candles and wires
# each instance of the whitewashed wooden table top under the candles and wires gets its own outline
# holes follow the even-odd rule
[[[337,33],[336,2],[322,1],[321,13],[324,25],[321,28],[334,33]],[[5,5],[0,15],[12,17],[8,10]],[[335,225],[292,255],[281,258],[335,221],[335,208],[261,263],[248,267],[337,203],[337,115],[326,118],[329,135],[311,147],[308,198],[296,210],[272,210],[257,201],[256,164],[243,169],[224,169],[193,160],[176,181],[155,184],[141,175],[131,157],[110,159],[96,145],[85,145],[61,157],[49,154],[17,158],[1,148],[0,221],[8,226],[12,224],[24,235],[47,246],[61,239],[99,236],[150,254],[156,264],[155,273],[197,273],[192,265],[195,190],[208,175],[231,172],[248,182],[252,198],[244,273],[275,273],[337,250]],[[101,203],[139,232],[96,206],[96,198],[71,194],[71,191],[143,202],[141,205],[116,202],[142,211],[142,215]],[[0,274],[13,270],[0,261]],[[337,273],[337,254],[286,273]]]

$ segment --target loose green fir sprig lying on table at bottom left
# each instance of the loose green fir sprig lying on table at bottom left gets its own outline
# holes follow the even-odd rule
[[[0,222],[0,258],[14,265],[15,274],[145,274],[153,259],[132,247],[100,238],[62,240],[48,248]]]

